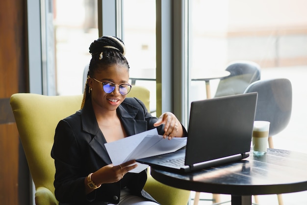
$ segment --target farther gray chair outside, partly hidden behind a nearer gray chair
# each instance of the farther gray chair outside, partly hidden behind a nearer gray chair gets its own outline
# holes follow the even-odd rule
[[[233,61],[226,71],[230,75],[220,80],[214,97],[242,94],[252,82],[260,80],[260,66],[252,61]]]

